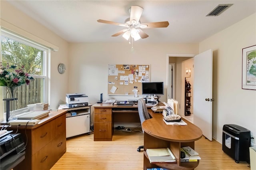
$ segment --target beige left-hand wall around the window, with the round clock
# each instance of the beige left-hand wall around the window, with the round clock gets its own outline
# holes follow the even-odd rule
[[[21,30],[36,36],[46,42],[52,43],[59,47],[58,51],[51,51],[49,60],[50,77],[48,79],[50,83],[50,108],[57,109],[59,103],[65,103],[65,94],[68,93],[68,71],[62,75],[58,73],[58,64],[66,64],[68,66],[68,43],[39,24],[37,21],[26,16],[26,14],[20,12],[6,1],[0,2],[0,18],[1,26],[13,30]],[[48,101],[49,101],[48,100]]]

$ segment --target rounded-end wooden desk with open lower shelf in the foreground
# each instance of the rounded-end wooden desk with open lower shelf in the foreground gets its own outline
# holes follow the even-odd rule
[[[154,113],[151,109],[148,112],[152,119],[147,119],[142,123],[144,130],[144,170],[146,168],[162,167],[170,170],[193,170],[198,166],[198,162],[180,162],[180,148],[190,146],[195,148],[194,141],[202,137],[202,130],[196,125],[182,119],[188,125],[166,125],[162,114]],[[170,148],[177,163],[154,163],[150,164],[147,148]],[[200,153],[199,153],[200,155]]]

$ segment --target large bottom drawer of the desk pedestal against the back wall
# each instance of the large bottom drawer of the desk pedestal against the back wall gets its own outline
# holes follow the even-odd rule
[[[94,141],[112,140],[112,123],[94,123]]]

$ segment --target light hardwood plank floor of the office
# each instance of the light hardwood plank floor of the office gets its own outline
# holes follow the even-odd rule
[[[112,141],[93,141],[93,133],[67,140],[67,151],[51,170],[142,170],[143,133],[115,130]],[[195,142],[200,154],[195,170],[250,170],[248,163],[237,164],[222,151],[217,141],[204,136]],[[188,162],[189,163],[189,162]]]

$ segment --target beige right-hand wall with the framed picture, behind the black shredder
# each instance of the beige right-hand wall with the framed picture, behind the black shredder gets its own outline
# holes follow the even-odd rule
[[[256,91],[242,89],[242,48],[256,45],[256,14],[200,42],[200,53],[213,50],[213,137],[222,127],[240,125],[256,139]]]

